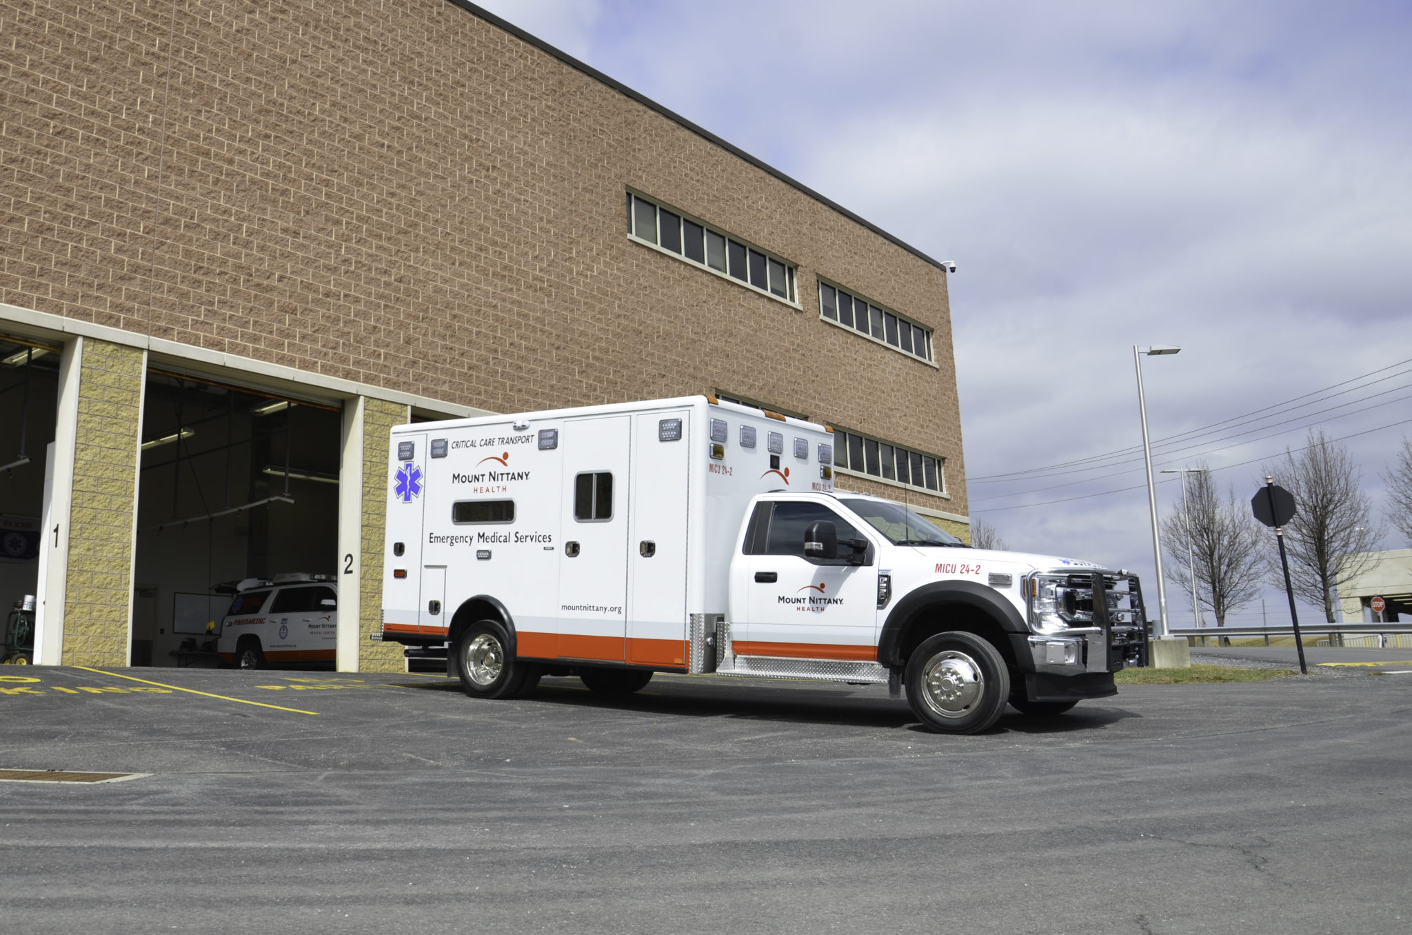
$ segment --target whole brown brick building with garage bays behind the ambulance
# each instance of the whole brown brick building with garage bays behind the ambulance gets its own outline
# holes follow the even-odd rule
[[[401,668],[408,419],[713,393],[966,535],[945,264],[469,3],[0,35],[0,600],[40,596],[40,661],[169,665],[215,583],[298,569],[357,595],[342,668]]]

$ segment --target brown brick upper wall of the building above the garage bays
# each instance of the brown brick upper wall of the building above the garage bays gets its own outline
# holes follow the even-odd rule
[[[943,455],[967,511],[936,267],[445,0],[0,35],[0,301],[504,412],[731,387]],[[628,186],[796,263],[803,311],[628,242]],[[939,370],[820,322],[816,275]]]

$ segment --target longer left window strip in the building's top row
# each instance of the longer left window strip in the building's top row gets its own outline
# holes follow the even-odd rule
[[[767,295],[799,301],[792,263],[633,192],[627,195],[627,233]]]

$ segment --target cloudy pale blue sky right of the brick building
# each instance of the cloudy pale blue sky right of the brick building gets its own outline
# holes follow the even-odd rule
[[[1152,600],[1134,345],[1182,347],[1142,359],[1155,470],[1244,500],[1322,428],[1382,548],[1412,547],[1382,518],[1412,434],[1412,4],[483,6],[957,264],[970,513],[1011,548],[1134,569]]]

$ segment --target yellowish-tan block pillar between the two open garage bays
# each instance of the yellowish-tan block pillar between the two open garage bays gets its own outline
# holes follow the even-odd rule
[[[65,665],[126,665],[143,352],[86,339],[79,362]]]

